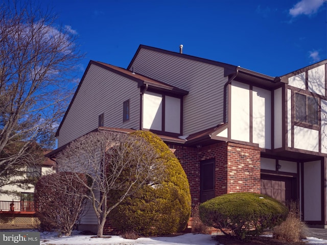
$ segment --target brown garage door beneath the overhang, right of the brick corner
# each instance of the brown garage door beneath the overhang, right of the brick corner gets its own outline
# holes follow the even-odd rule
[[[261,193],[285,204],[297,199],[295,184],[295,178],[262,175]]]

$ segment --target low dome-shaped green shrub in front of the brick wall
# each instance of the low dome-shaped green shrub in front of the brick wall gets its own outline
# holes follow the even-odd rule
[[[202,222],[243,240],[281,224],[288,208],[267,195],[237,192],[220,195],[199,207]]]

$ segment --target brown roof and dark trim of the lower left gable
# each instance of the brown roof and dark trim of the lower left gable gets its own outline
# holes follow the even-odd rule
[[[66,115],[67,115],[69,109],[71,109],[71,106],[72,106],[72,104],[73,104],[73,102],[75,100],[76,94],[78,93],[78,91],[79,91],[79,89],[80,89],[80,87],[81,87],[81,85],[82,85],[82,83],[84,81],[85,75],[87,74],[87,71],[88,71],[89,67],[92,64],[97,65],[99,67],[102,67],[104,69],[107,69],[109,71],[112,71],[115,74],[118,74],[120,76],[126,77],[126,78],[128,78],[128,79],[130,79],[132,81],[135,81],[135,82],[137,82],[138,87],[146,86],[147,85],[147,86],[149,86],[151,88],[154,88],[156,90],[166,91],[166,92],[169,92],[171,94],[175,94],[175,95],[179,95],[179,96],[183,96],[183,95],[186,95],[186,94],[189,93],[189,91],[186,91],[184,89],[177,88],[177,87],[172,86],[172,85],[169,85],[167,83],[162,83],[160,81],[157,81],[157,80],[148,78],[146,76],[135,74],[135,73],[133,73],[130,70],[126,70],[124,68],[121,68],[121,67],[118,67],[118,66],[114,66],[114,65],[109,65],[109,64],[106,64],[106,63],[103,63],[103,62],[91,60],[88,63],[87,68],[86,68],[86,70],[85,70],[85,72],[83,74],[83,77],[82,77],[82,79],[81,79],[81,81],[80,81],[80,83],[79,83],[79,85],[78,85],[78,87],[77,87],[77,89],[76,89],[76,91],[74,93],[73,99],[72,99],[71,103],[69,103],[69,106],[68,106],[68,108],[67,108],[67,110],[66,110],[66,112],[65,112],[65,114],[64,114],[64,116],[63,116],[63,118],[62,118],[62,120],[60,122],[60,125],[58,127],[58,130],[56,132],[56,136],[59,135],[59,131],[60,131],[60,128],[62,126],[62,123],[65,120]]]

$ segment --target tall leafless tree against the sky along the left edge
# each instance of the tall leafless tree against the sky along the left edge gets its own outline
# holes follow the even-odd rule
[[[53,146],[75,86],[70,75],[83,57],[76,32],[41,9],[29,1],[0,4],[0,186],[12,169],[34,163],[31,142]]]

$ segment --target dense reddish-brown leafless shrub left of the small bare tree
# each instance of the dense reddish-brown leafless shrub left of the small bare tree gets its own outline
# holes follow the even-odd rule
[[[36,216],[41,221],[41,229],[57,230],[66,236],[71,235],[76,221],[83,214],[85,206],[84,194],[87,188],[85,175],[72,173],[43,176],[35,186]]]

